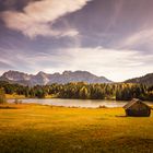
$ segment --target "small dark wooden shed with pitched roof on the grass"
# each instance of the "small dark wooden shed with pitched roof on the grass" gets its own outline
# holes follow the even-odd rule
[[[149,117],[151,115],[151,107],[138,98],[133,98],[123,106],[127,116],[133,117]]]

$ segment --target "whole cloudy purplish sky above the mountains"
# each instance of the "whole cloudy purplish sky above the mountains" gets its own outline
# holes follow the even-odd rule
[[[0,74],[153,72],[153,0],[0,0]]]

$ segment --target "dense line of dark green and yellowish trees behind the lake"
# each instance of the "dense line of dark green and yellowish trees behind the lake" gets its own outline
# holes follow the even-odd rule
[[[25,97],[45,98],[48,95],[59,98],[81,98],[81,99],[116,99],[130,101],[141,98],[153,101],[153,86],[131,83],[110,83],[110,84],[87,84],[84,82],[68,84],[50,84],[23,86],[0,82],[0,89],[5,94],[25,95]]]

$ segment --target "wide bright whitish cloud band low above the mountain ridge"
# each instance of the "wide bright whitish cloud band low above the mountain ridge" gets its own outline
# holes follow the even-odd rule
[[[143,55],[137,50],[116,50],[103,47],[62,48],[55,50],[54,54],[47,50],[44,54],[16,54],[8,58],[15,70],[28,73],[86,70],[114,81],[123,81],[152,72],[152,59],[153,55]]]

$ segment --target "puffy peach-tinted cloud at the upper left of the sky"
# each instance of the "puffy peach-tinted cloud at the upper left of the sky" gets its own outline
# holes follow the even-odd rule
[[[43,0],[30,2],[23,12],[3,11],[1,16],[11,30],[22,32],[24,35],[34,38],[42,36],[76,36],[75,28],[63,31],[51,30],[51,24],[57,19],[68,13],[82,9],[90,0]]]

